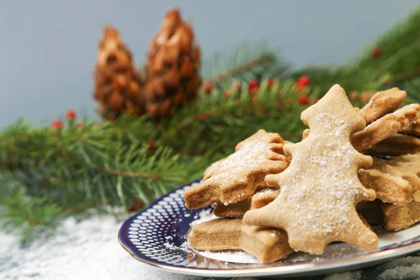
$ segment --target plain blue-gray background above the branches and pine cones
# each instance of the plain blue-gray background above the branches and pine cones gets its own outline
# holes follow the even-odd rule
[[[193,22],[204,59],[266,39],[293,66],[344,62],[405,18],[405,1],[0,0],[0,127],[85,109],[94,116],[92,69],[102,26],[120,29],[137,64],[170,8]]]

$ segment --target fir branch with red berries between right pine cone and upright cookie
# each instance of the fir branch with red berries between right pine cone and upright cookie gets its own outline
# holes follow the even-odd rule
[[[306,93],[310,102],[320,94],[310,87]],[[246,85],[231,97],[218,90],[211,95],[202,94],[195,104],[185,106],[161,124],[159,143],[172,146],[177,153],[225,155],[258,128],[298,139],[304,127],[299,116],[305,108],[298,106],[298,98],[293,80],[279,81],[273,87],[267,87],[267,81],[263,80],[253,94]]]

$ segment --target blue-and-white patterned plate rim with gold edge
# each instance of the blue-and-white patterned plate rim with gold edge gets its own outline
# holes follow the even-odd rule
[[[321,261],[274,262],[271,264],[235,263],[206,258],[189,250],[186,235],[190,223],[200,212],[214,206],[186,209],[183,193],[201,180],[172,190],[121,225],[118,241],[136,260],[171,272],[197,276],[295,276],[319,274],[321,271],[346,271],[386,262],[390,258],[420,250],[420,235],[382,246],[373,251],[323,258]],[[325,272],[328,273],[328,272]]]

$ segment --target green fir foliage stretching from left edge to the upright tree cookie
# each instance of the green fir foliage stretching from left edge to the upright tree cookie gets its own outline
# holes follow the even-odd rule
[[[306,90],[310,102],[321,93]],[[199,179],[211,162],[259,128],[300,139],[304,125],[296,116],[306,106],[297,104],[298,96],[293,80],[270,86],[263,80],[252,93],[246,83],[230,97],[223,90],[201,92],[194,104],[158,125],[128,116],[114,123],[85,119],[80,128],[71,120],[62,130],[20,121],[0,134],[0,176],[20,182],[19,188],[5,183],[15,193],[0,203],[18,204],[10,204],[3,218],[27,233],[91,207],[130,208],[137,200],[146,205]],[[18,207],[24,197],[31,197],[28,207],[42,205],[46,212],[29,218]]]

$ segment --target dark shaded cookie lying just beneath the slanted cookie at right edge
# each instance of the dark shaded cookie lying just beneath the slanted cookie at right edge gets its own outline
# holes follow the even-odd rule
[[[394,134],[363,151],[367,155],[406,155],[420,152],[420,139],[405,134]]]

